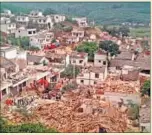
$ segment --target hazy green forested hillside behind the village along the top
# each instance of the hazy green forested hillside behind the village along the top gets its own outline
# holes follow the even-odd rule
[[[150,2],[94,2],[94,3],[3,3],[5,7],[14,12],[28,12],[29,9],[52,8],[58,13],[87,16],[98,24],[120,24],[122,22],[150,22]],[[26,8],[25,8],[26,7]]]

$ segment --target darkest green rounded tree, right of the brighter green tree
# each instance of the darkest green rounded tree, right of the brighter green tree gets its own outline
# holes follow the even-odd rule
[[[109,52],[111,56],[117,55],[119,53],[119,46],[110,40],[101,41],[99,43],[99,48]]]

